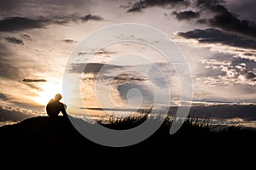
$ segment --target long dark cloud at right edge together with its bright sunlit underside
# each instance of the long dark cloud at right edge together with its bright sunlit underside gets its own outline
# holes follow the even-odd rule
[[[232,54],[235,58],[256,61],[256,40],[253,37],[209,28],[178,32],[173,40],[197,48],[211,48],[212,51],[222,54]]]

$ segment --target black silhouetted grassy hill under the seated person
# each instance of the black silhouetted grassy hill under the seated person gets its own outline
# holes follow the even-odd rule
[[[79,123],[88,123],[70,118]],[[108,123],[99,123],[112,129],[128,129],[136,127],[146,118],[112,118]],[[79,167],[88,164],[105,167],[113,166],[115,162],[123,162],[125,167],[133,168],[134,164],[143,167],[150,167],[150,164],[170,167],[177,161],[187,164],[189,161],[204,160],[209,165],[222,165],[253,158],[249,153],[256,151],[256,131],[252,128],[227,127],[216,131],[212,130],[216,128],[209,123],[196,123],[196,120],[190,119],[183,123],[177,133],[170,135],[171,125],[172,121],[166,119],[152,136],[141,143],[127,147],[107,147],[84,138],[69,119],[63,116],[57,119],[49,116],[33,117],[14,125],[0,127],[1,162],[33,160],[40,164],[44,162],[45,165],[57,166],[61,162],[61,167],[65,167],[66,163]],[[99,165],[94,163],[95,160],[99,161]]]

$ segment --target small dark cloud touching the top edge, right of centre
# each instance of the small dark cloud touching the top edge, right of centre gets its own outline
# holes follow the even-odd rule
[[[143,8],[154,7],[154,6],[166,6],[166,5],[188,5],[186,0],[143,0],[134,3],[131,8],[127,10],[128,13],[140,12]]]

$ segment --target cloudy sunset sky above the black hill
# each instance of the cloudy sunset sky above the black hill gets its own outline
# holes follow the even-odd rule
[[[195,104],[255,104],[255,8],[253,0],[0,1],[0,121],[16,122],[27,115],[44,114],[49,99],[62,94],[67,59],[79,42],[93,31],[122,23],[152,26],[177,43],[191,71]],[[80,64],[89,53],[88,49],[80,51]],[[166,74],[170,73],[173,91],[178,92],[177,81],[173,81],[177,77],[171,74],[174,70],[158,57],[160,54],[130,42],[114,44],[96,53],[84,71],[81,90],[86,93],[81,95],[87,107],[98,107],[93,84],[99,68],[124,54],[154,59]],[[140,63],[134,56],[131,60],[142,70],[148,69],[152,77],[159,77],[152,65]],[[81,75],[79,66],[74,63],[69,71]],[[108,70],[129,66],[119,62]],[[102,85],[104,78],[108,79],[102,77]],[[132,72],[116,77],[111,88],[113,103],[127,105],[129,88],[139,89],[146,96],[144,104],[150,104],[153,94],[147,78]],[[165,93],[165,88],[159,89],[158,93]],[[177,94],[173,96],[172,102],[177,104]],[[65,102],[69,113],[83,111],[84,106],[76,105],[75,97]],[[18,116],[7,116],[10,112]]]

